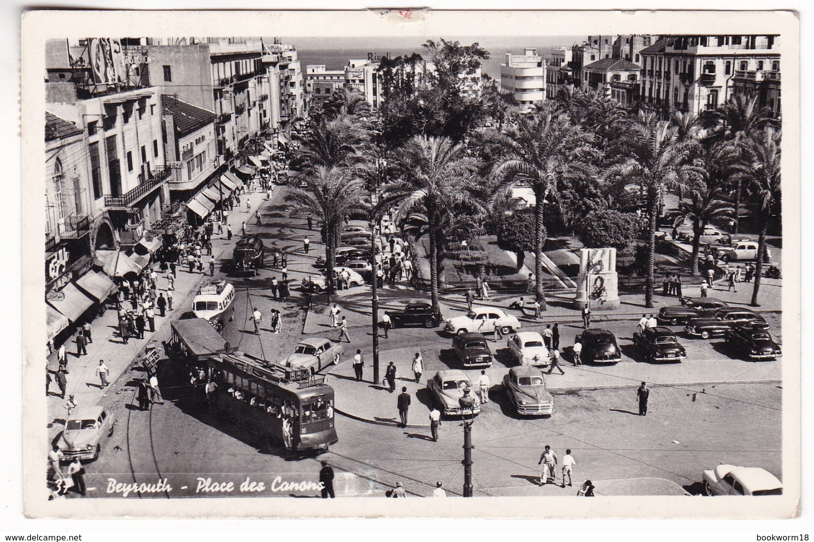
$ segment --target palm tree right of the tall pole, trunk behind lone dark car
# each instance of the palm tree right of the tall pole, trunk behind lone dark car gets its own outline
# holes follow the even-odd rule
[[[468,181],[476,171],[477,160],[465,154],[465,146],[450,138],[416,135],[396,151],[398,180],[387,186],[381,205],[395,205],[395,220],[414,212],[427,221],[430,242],[430,296],[434,310],[438,304],[438,264],[440,227],[444,214],[466,199]]]

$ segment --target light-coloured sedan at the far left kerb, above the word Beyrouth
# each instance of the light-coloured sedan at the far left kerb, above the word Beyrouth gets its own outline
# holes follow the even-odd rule
[[[102,450],[102,439],[113,435],[116,416],[101,405],[77,407],[65,421],[65,431],[59,435],[57,446],[64,460],[94,461]]]

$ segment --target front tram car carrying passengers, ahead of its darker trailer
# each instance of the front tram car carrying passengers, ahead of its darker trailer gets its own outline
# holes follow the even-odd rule
[[[325,452],[339,441],[334,389],[323,375],[231,352],[208,359],[207,377],[217,385],[207,400],[262,439],[289,452]]]

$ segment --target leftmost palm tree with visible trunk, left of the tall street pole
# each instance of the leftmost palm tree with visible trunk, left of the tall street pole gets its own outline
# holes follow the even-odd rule
[[[300,173],[303,188],[288,190],[285,201],[288,216],[312,214],[325,225],[326,287],[328,300],[334,294],[335,251],[339,244],[339,229],[351,212],[365,209],[365,189],[362,181],[348,177],[341,168],[317,165],[309,174]]]

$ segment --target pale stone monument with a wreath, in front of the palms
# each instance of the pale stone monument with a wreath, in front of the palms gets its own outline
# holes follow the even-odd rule
[[[619,277],[615,248],[580,250],[580,276],[576,279],[574,308],[592,311],[619,308]]]

